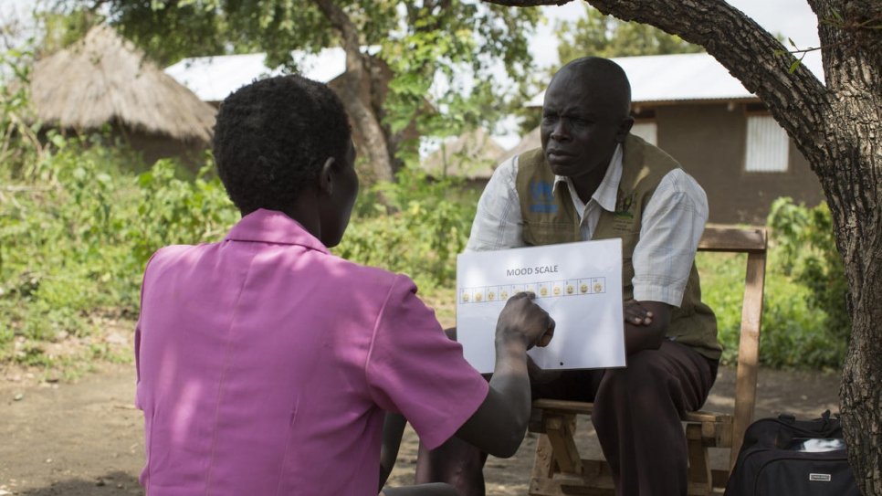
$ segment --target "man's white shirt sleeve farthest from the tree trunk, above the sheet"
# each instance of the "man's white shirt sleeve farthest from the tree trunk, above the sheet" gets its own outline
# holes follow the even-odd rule
[[[521,229],[520,198],[515,188],[518,156],[511,157],[493,171],[478,200],[466,251],[519,248],[524,246]]]

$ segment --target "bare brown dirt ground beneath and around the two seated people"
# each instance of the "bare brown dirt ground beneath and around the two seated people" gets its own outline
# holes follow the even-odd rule
[[[39,382],[25,371],[0,370],[0,496],[142,494],[142,415],[133,406],[131,364],[100,365],[75,382]],[[756,417],[781,412],[817,417],[838,410],[839,378],[820,373],[761,370]],[[734,371],[723,367],[709,408],[733,406]],[[587,419],[581,425],[590,426]],[[590,443],[583,428],[579,444]],[[488,460],[488,494],[525,494],[536,439],[511,459]],[[717,453],[723,463],[725,453]],[[416,438],[408,427],[390,484],[411,483]]]

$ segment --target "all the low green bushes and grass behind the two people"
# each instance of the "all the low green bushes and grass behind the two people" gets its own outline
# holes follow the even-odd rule
[[[132,172],[125,148],[54,136],[24,178],[3,165],[0,183],[0,361],[52,363],[45,344],[96,332],[101,316],[134,319],[141,274],[164,245],[217,240],[237,218],[210,162],[195,179],[171,161]],[[477,198],[455,180],[410,169],[365,192],[335,253],[404,272],[440,304],[454,301],[456,255],[465,247]],[[396,207],[387,214],[373,196]],[[761,361],[835,369],[850,330],[845,280],[829,211],[775,204],[766,279]],[[738,349],[745,260],[699,254],[702,289],[717,311],[731,362]]]

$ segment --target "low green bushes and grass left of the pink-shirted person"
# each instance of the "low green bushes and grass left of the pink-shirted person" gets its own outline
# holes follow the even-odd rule
[[[207,166],[194,181],[170,161],[139,175],[125,148],[49,142],[30,155],[29,180],[0,169],[0,360],[33,363],[36,343],[89,335],[95,312],[134,317],[153,251],[215,240],[238,217]]]

